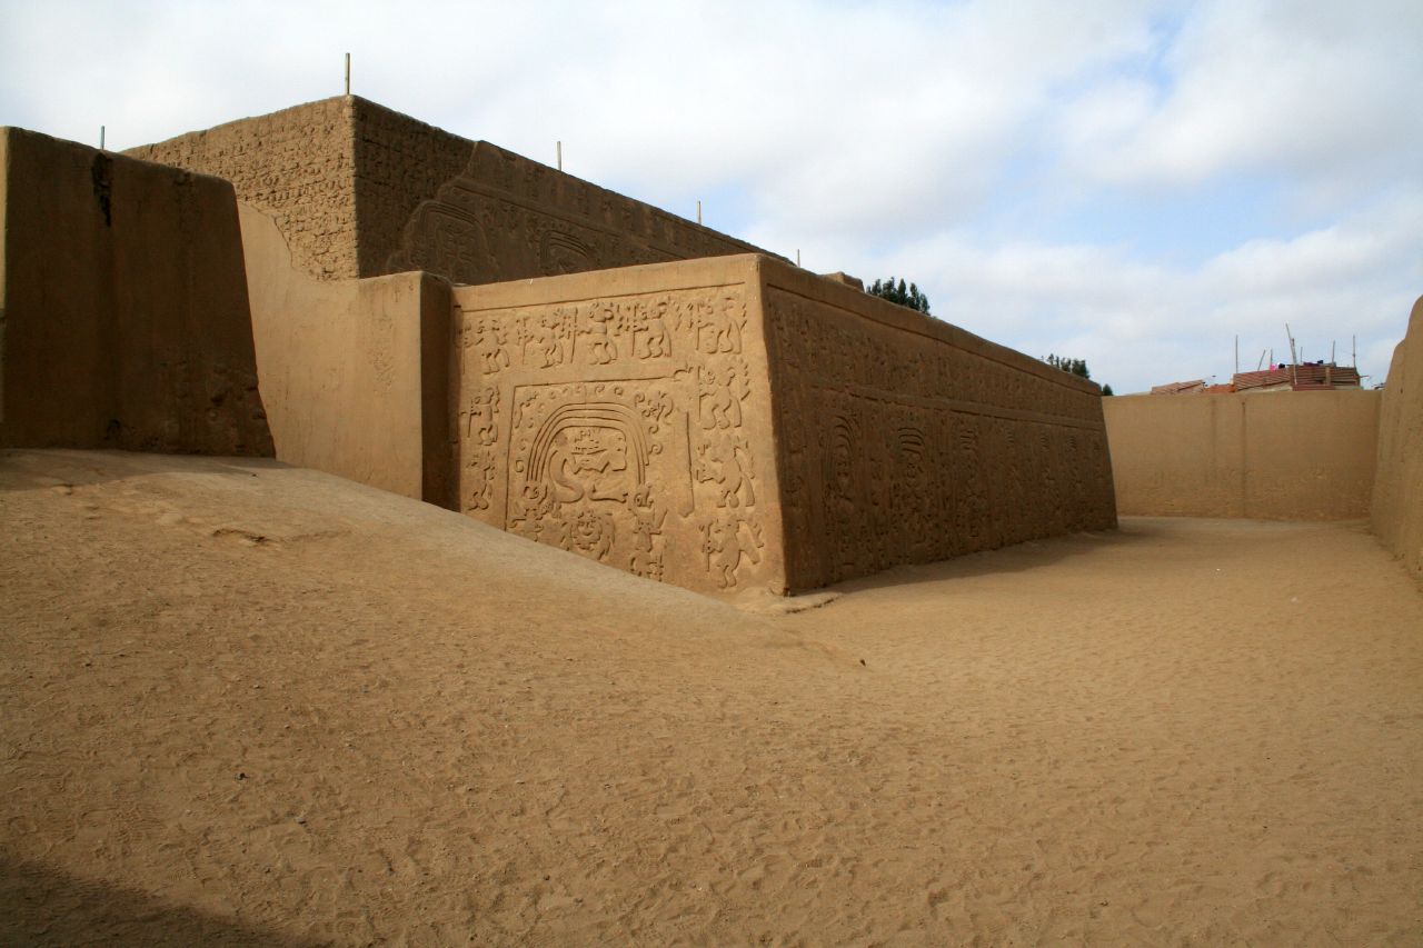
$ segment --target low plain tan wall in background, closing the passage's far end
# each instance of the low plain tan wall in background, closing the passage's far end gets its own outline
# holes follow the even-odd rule
[[[1103,409],[1121,514],[1369,515],[1376,391],[1117,396]]]

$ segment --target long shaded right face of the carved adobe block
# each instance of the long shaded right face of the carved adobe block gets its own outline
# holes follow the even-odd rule
[[[793,589],[1116,527],[1097,386],[776,260],[763,293]]]

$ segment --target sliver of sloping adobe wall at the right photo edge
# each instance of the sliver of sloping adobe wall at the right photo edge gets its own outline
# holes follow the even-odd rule
[[[1423,299],[1383,389],[1370,520],[1379,541],[1423,584]]]

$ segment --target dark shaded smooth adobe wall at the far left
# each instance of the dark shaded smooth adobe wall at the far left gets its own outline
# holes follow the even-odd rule
[[[272,454],[232,185],[0,128],[0,447]]]

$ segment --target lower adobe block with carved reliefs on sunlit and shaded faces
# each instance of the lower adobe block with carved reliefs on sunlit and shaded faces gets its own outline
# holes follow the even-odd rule
[[[458,505],[703,591],[1116,525],[1096,386],[743,255],[457,288]]]

